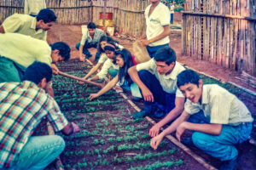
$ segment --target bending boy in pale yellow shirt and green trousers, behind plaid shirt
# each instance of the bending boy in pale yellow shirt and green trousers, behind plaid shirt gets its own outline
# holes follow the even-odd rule
[[[48,45],[43,40],[22,34],[0,34],[0,82],[20,82],[24,71],[34,61],[50,65],[58,74],[57,64],[70,58],[70,48],[65,42],[55,42]],[[49,87],[49,94],[53,90]]]

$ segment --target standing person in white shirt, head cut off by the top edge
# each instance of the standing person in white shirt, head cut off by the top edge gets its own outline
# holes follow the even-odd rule
[[[145,9],[146,32],[140,39],[146,46],[149,56],[153,58],[158,49],[169,46],[170,12],[160,0],[150,2]]]

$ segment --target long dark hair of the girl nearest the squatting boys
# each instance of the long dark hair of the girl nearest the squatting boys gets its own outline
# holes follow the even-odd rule
[[[116,57],[120,56],[122,59],[124,59],[124,66],[119,67],[119,82],[122,82],[125,78],[125,81],[128,82],[128,86],[131,86],[132,80],[130,75],[128,74],[128,69],[133,66],[131,53],[129,50],[123,48],[121,50],[117,50],[114,57],[114,63],[116,63]]]

